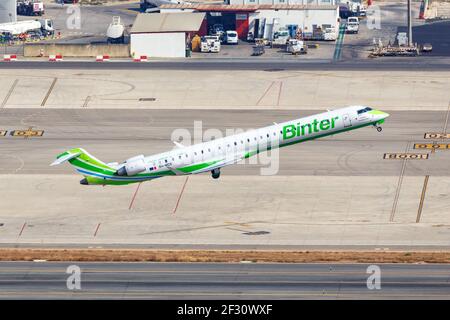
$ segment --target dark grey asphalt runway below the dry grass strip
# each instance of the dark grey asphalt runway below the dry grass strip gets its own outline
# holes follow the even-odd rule
[[[365,264],[2,262],[0,299],[450,299],[449,265],[379,268],[368,289]]]

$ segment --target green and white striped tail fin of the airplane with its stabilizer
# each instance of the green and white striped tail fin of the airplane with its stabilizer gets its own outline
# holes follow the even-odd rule
[[[56,166],[66,161],[76,167],[83,175],[90,175],[92,173],[114,174],[116,172],[115,168],[98,160],[82,148],[71,149],[59,154],[56,160],[50,165]]]

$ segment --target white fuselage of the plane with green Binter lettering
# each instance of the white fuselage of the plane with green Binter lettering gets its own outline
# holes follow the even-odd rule
[[[220,168],[272,148],[371,124],[376,125],[388,116],[387,113],[377,110],[358,114],[358,110],[361,111],[364,108],[361,106],[342,108],[148,156],[144,158],[145,172],[156,173],[167,171],[168,168],[176,170],[210,161],[218,161],[217,167]],[[205,168],[211,169],[211,167]],[[188,172],[180,171],[179,173]]]

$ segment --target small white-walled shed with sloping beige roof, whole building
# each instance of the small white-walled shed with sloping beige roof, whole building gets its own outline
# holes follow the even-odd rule
[[[141,13],[130,31],[132,57],[183,58],[186,44],[198,33],[204,13]]]

